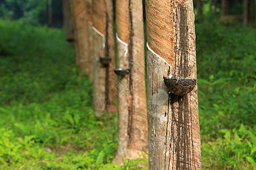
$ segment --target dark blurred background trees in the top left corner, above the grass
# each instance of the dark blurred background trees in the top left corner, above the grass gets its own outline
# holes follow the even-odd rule
[[[49,9],[52,9],[49,12]],[[0,18],[20,20],[31,25],[62,27],[61,0],[1,0]]]

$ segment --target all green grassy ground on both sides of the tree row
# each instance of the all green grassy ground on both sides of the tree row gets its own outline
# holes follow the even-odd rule
[[[63,31],[2,20],[0,30],[0,169],[119,169],[117,114],[94,117]],[[196,31],[203,168],[256,168],[255,29]]]

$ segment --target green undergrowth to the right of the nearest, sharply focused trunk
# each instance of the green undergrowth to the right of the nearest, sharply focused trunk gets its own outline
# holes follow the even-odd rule
[[[202,164],[256,168],[256,31],[196,25]]]

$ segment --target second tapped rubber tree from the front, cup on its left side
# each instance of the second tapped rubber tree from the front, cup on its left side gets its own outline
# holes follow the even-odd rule
[[[147,151],[144,82],[143,6],[139,0],[115,1],[117,25],[118,149],[114,162],[143,158]]]

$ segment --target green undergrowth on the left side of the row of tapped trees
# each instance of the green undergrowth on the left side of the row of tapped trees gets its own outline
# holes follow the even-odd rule
[[[117,114],[94,117],[64,32],[3,20],[0,30],[0,169],[118,169]]]

